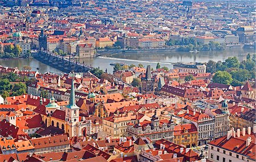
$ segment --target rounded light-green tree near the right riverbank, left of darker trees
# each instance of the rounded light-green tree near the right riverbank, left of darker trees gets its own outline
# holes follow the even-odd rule
[[[229,74],[228,72],[226,71],[217,71],[213,78],[212,78],[213,82],[217,82],[217,83],[220,83],[220,84],[227,84],[227,85],[230,85],[231,82],[232,82],[232,76],[231,74]]]

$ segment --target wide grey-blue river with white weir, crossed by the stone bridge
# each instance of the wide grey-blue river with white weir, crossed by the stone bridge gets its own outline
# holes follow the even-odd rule
[[[125,63],[128,65],[138,65],[141,63],[145,66],[151,65],[153,68],[156,67],[157,63],[160,63],[161,66],[172,68],[172,63],[189,63],[193,61],[205,63],[208,60],[224,61],[231,56],[236,56],[241,61],[246,58],[247,53],[255,53],[255,51],[253,49],[228,49],[226,51],[204,51],[198,53],[177,51],[112,52],[111,55],[100,56],[94,59],[80,59],[79,61],[80,63],[92,65],[92,67],[100,67],[104,71],[107,69],[108,72],[113,72],[113,66],[110,63]],[[40,73],[61,73],[60,70],[31,58],[0,60],[0,65],[3,67],[17,67],[18,69],[22,69],[24,65],[30,65],[32,70],[38,70]]]

